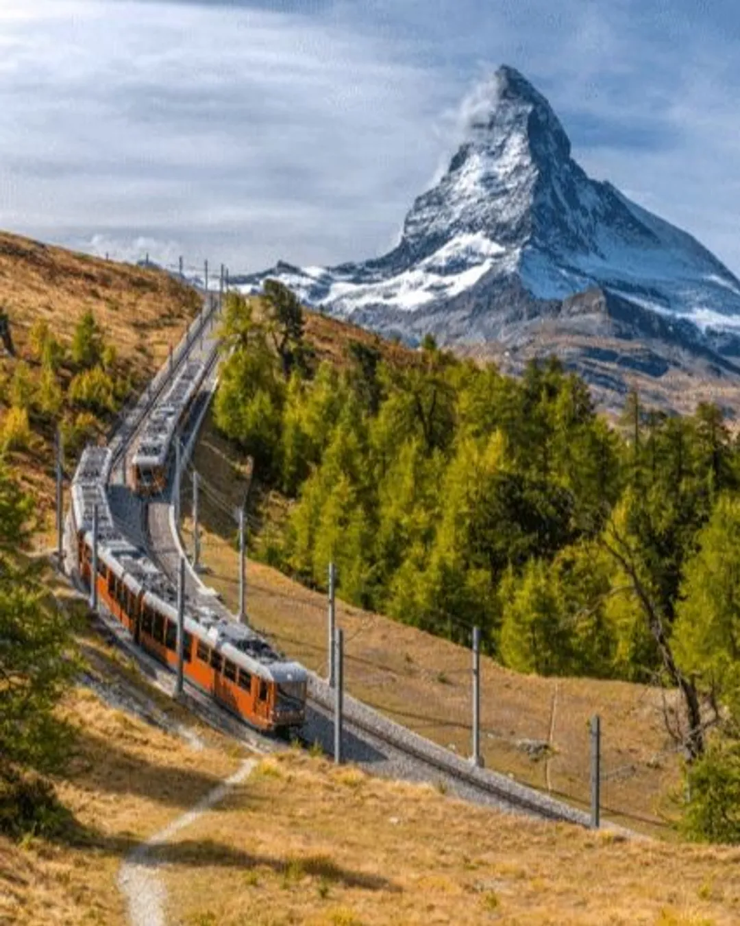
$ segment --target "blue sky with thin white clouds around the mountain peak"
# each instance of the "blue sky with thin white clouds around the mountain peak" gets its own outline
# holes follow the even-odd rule
[[[573,156],[740,274],[740,8],[2,0],[0,227],[122,258],[382,253],[507,63]]]

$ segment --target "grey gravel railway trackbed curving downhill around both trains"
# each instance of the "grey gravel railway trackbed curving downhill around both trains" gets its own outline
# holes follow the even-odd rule
[[[206,315],[204,309],[203,319]],[[183,434],[183,443],[190,447],[197,438],[203,413],[216,385],[215,331],[216,326],[208,321],[204,324],[194,322],[190,336],[183,339],[175,353],[176,369],[189,357],[206,357],[210,363],[201,393],[193,405],[187,431]],[[111,436],[110,445],[114,449],[115,462],[109,483],[109,500],[118,527],[133,542],[145,546],[149,556],[166,571],[170,579],[176,581],[182,545],[172,507],[173,474],[170,471],[163,494],[150,499],[148,503],[143,503],[123,481],[121,466],[166,380],[165,366],[142,395],[139,404],[129,412],[122,426]],[[187,456],[186,452],[184,460]],[[186,570],[186,594],[192,599],[207,599],[209,607],[228,619],[235,619],[190,568]],[[108,630],[133,655],[133,646],[126,639],[127,632],[120,624],[117,621],[108,621],[105,615],[101,615],[101,619],[105,621]],[[154,669],[153,660],[140,654],[138,650],[135,655],[150,676],[161,677],[163,673],[166,674],[164,668]],[[163,683],[161,678],[159,683]],[[166,682],[164,686],[169,687]],[[172,687],[174,688],[174,685]],[[197,713],[224,732],[236,734],[242,740],[255,742],[259,739],[265,742],[264,737],[228,715],[215,703],[207,704],[208,699],[194,690],[188,682],[185,683],[185,700]],[[333,745],[332,705],[333,694],[326,682],[311,674],[303,739],[312,744],[318,742],[327,752],[331,751]],[[374,774],[415,782],[432,782],[449,794],[504,811],[525,813],[545,820],[564,820],[584,826],[589,823],[585,812],[514,782],[505,775],[475,768],[462,757],[407,730],[347,694],[344,698],[344,718],[345,760],[355,762]]]

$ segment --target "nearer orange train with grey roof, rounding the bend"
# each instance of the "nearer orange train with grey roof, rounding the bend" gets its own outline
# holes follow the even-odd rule
[[[117,530],[105,491],[107,448],[89,447],[72,482],[77,566],[97,584],[98,601],[126,627],[134,643],[177,669],[177,589],[165,573]],[[97,572],[93,579],[93,510],[98,508]],[[305,719],[307,673],[260,636],[209,607],[187,600],[183,673],[219,704],[259,730],[297,729]]]

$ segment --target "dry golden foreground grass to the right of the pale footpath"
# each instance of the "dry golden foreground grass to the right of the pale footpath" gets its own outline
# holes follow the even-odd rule
[[[626,842],[462,805],[292,754],[163,850],[170,920],[200,926],[740,921],[740,850]]]

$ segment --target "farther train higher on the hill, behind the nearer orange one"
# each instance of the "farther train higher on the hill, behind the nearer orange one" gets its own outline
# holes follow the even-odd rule
[[[204,375],[204,362],[189,360],[155,403],[129,466],[129,481],[137,494],[154,495],[165,490],[172,438],[187,419]]]

